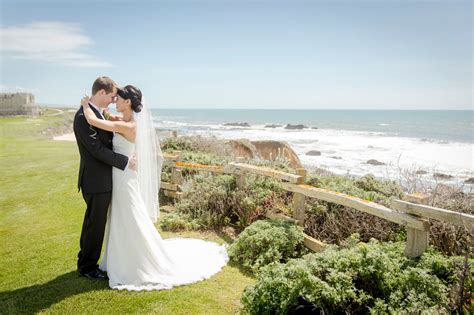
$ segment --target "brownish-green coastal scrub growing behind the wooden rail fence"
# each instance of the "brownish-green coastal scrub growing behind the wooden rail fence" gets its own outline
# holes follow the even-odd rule
[[[200,149],[201,147],[203,149]],[[164,141],[163,149],[165,152],[179,151],[180,156],[190,163],[223,166],[237,159],[229,144],[216,138],[170,137]],[[190,158],[192,156],[197,159],[193,160]],[[246,160],[246,163],[296,173],[281,156],[272,161],[252,159]],[[170,172],[169,168],[165,168],[162,178],[171,177],[167,172]],[[405,194],[412,192],[411,187],[403,187],[396,181],[379,179],[371,174],[348,177],[321,169],[309,172],[306,184],[373,201],[386,207],[390,207],[393,199],[402,199]],[[462,187],[442,183],[434,187],[418,183],[418,187],[423,188],[419,192],[431,195],[431,206],[474,214],[474,195],[464,192]],[[182,191],[181,198],[172,201],[176,203],[178,213],[201,220],[204,228],[229,226],[241,231],[255,220],[264,218],[269,210],[293,215],[293,210],[288,206],[291,204],[291,196],[281,189],[279,182],[255,174],[247,175],[244,185],[237,187],[235,176],[187,170]],[[371,238],[380,241],[406,239],[403,226],[349,207],[320,200],[307,202],[305,207],[305,232],[329,244],[339,244],[353,233],[358,233],[362,241]],[[470,249],[471,234],[466,228],[436,220],[432,220],[431,225],[430,243],[437,250],[447,255],[462,255]]]

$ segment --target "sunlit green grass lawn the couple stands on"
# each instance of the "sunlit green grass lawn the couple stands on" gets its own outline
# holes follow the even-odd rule
[[[65,119],[0,118],[0,313],[239,312],[240,295],[255,280],[232,266],[196,284],[152,292],[111,290],[78,276],[85,204],[76,188],[77,145],[42,135]],[[213,232],[162,235],[226,240]]]

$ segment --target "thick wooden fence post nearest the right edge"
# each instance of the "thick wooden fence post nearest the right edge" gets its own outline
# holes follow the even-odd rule
[[[420,193],[410,194],[405,196],[405,198],[408,202],[421,205],[427,205],[429,201],[429,197],[427,195]],[[420,231],[413,228],[407,228],[407,244],[405,247],[405,256],[415,258],[423,255],[423,253],[428,248],[428,241],[429,231]]]

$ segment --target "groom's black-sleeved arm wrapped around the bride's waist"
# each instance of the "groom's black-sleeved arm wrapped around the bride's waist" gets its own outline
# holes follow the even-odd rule
[[[77,141],[84,145],[86,150],[98,160],[121,170],[127,167],[128,157],[115,153],[104,146],[99,140],[97,131],[87,123],[82,112],[78,113],[74,119],[74,133],[76,134]]]

